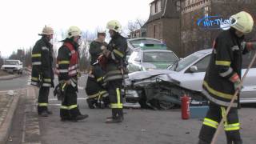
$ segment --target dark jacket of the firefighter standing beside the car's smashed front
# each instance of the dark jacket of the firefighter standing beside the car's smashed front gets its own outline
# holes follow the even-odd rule
[[[108,82],[126,78],[126,38],[117,33],[111,38],[110,43],[106,48],[107,50],[110,50],[111,53],[106,63],[106,75],[104,81]]]

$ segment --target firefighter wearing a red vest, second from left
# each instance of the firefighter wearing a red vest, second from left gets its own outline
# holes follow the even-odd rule
[[[56,73],[58,81],[65,89],[65,96],[60,107],[61,121],[78,121],[88,117],[82,115],[78,109],[78,47],[81,38],[81,30],[77,26],[70,26],[67,38],[58,49]],[[64,88],[66,86],[66,88]]]

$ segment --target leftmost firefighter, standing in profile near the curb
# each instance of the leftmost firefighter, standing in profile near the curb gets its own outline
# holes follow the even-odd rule
[[[50,43],[53,34],[54,30],[45,26],[42,33],[38,34],[42,38],[35,43],[32,50],[31,85],[39,87],[38,115],[42,117],[52,114],[48,110],[48,96],[50,87],[54,87],[53,45]]]

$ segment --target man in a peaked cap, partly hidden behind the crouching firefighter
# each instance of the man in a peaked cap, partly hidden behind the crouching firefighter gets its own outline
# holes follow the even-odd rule
[[[90,53],[90,65],[93,66],[97,62],[97,58],[102,54],[102,51],[106,49],[107,43],[105,42],[106,31],[98,30],[98,38],[90,43],[89,53]]]

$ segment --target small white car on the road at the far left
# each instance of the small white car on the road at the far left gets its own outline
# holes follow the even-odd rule
[[[6,60],[2,65],[2,70],[9,73],[22,74],[22,70],[23,70],[22,62],[14,59]]]

